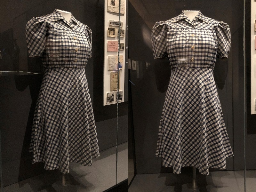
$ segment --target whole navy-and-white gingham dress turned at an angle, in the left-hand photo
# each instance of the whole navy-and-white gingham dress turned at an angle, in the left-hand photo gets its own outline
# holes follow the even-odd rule
[[[69,172],[69,163],[92,165],[99,157],[92,103],[85,76],[92,32],[74,16],[67,22],[56,9],[28,21],[29,57],[45,68],[33,120],[30,152],[46,170]]]

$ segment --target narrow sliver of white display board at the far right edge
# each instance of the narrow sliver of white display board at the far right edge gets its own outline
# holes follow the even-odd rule
[[[256,50],[254,23],[256,20],[256,2],[251,1],[251,114],[256,114]]]

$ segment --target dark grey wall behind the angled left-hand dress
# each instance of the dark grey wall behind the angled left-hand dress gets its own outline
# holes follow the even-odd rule
[[[1,2],[0,49],[7,55],[0,60],[0,71],[23,70],[43,73],[40,58],[28,58],[25,26],[35,16],[52,13],[55,8],[72,12],[92,29],[92,58],[85,68],[92,99],[100,151],[116,146],[116,105],[103,108],[104,1],[36,0]],[[14,39],[17,39],[14,43]],[[2,52],[3,53],[3,52]],[[126,72],[127,73],[127,72]],[[28,152],[35,102],[42,75],[0,74],[0,128],[3,186],[26,179],[43,170],[32,164]],[[127,100],[127,99],[126,99]],[[127,102],[120,104],[119,141],[128,140]]]

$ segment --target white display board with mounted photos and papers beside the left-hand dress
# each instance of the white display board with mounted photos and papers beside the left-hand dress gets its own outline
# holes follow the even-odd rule
[[[111,4],[110,4],[111,3]],[[122,70],[119,70],[119,94],[121,94],[121,98],[119,102],[124,102],[124,67],[125,67],[125,37],[126,37],[126,0],[122,0],[121,9],[124,11],[124,14],[121,14],[120,21],[122,23],[122,34],[124,32],[124,36],[120,37],[120,45],[124,50],[120,50],[120,60],[123,57],[122,62]],[[108,6],[110,5],[110,6]],[[110,41],[118,42],[118,22],[119,14],[116,12],[109,12],[108,9],[116,9],[119,10],[119,0],[105,0],[105,24],[104,24],[104,87],[103,87],[103,105],[111,105],[116,104],[116,93],[117,91],[111,91],[111,72],[117,72],[117,70],[113,69],[113,65],[109,66],[108,60],[111,60],[113,63],[114,56],[118,55],[118,52],[108,52],[108,42],[110,44],[115,44]],[[112,21],[110,23],[110,21]],[[116,26],[115,26],[116,25]],[[113,31],[115,29],[115,32]],[[110,56],[110,58],[109,58]],[[117,60],[117,59],[116,59]],[[116,68],[117,69],[117,68]],[[112,73],[113,74],[113,73]],[[113,95],[114,92],[114,95]],[[108,96],[108,100],[107,100]]]

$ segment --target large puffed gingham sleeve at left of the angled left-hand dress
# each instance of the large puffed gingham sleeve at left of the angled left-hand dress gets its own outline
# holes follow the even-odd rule
[[[46,44],[46,23],[40,17],[34,17],[26,25],[28,56],[41,56]]]

